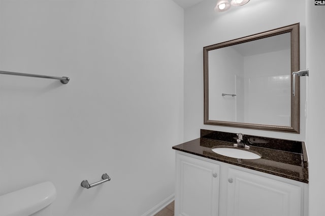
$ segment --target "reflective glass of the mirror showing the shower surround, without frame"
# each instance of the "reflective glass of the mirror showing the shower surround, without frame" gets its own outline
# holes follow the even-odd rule
[[[209,51],[208,62],[210,119],[290,126],[290,33]]]

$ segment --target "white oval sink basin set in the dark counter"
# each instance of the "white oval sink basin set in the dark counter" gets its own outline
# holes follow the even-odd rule
[[[238,147],[231,146],[217,146],[213,147],[212,151],[227,157],[240,158],[240,159],[258,159],[262,156],[257,152],[239,149]]]

